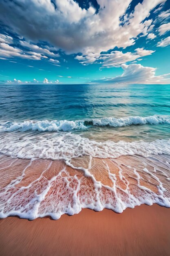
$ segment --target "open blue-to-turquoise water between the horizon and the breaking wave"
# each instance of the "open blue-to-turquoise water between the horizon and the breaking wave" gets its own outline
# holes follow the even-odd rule
[[[0,121],[170,114],[170,85],[0,85]]]

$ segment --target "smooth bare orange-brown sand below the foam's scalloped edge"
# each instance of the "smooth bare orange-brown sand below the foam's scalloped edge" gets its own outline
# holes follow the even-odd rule
[[[0,220],[1,256],[168,256],[170,209],[141,205],[115,213],[83,209],[59,220]]]

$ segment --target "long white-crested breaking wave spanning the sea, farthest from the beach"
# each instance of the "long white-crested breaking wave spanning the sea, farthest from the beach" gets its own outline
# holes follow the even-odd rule
[[[84,130],[92,126],[109,126],[109,127],[122,127],[130,125],[144,125],[144,124],[170,124],[170,116],[168,115],[153,115],[148,117],[105,117],[101,119],[87,119],[87,120],[42,120],[42,121],[23,121],[14,122],[8,121],[0,124],[0,132],[13,132],[13,131],[41,131],[41,132],[56,132],[63,131],[69,132],[71,130]]]

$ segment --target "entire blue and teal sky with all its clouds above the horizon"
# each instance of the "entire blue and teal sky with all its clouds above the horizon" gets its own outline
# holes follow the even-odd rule
[[[0,0],[0,84],[170,84],[170,0]]]

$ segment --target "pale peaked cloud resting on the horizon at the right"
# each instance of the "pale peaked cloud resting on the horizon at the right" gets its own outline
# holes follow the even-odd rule
[[[121,76],[116,76],[114,78],[102,79],[102,82],[112,82],[112,83],[145,83],[145,84],[160,84],[160,83],[170,83],[170,74],[165,74],[161,76],[156,76],[154,67],[144,67],[141,64],[122,64],[122,69],[124,70]]]

